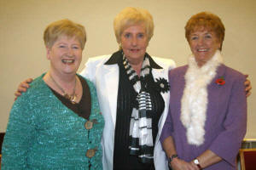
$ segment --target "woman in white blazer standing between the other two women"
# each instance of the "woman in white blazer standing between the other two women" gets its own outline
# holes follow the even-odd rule
[[[148,11],[125,8],[113,26],[119,51],[90,58],[81,72],[94,82],[105,118],[103,169],[168,169],[159,134],[168,110],[168,71],[175,63],[146,53],[154,31]]]

